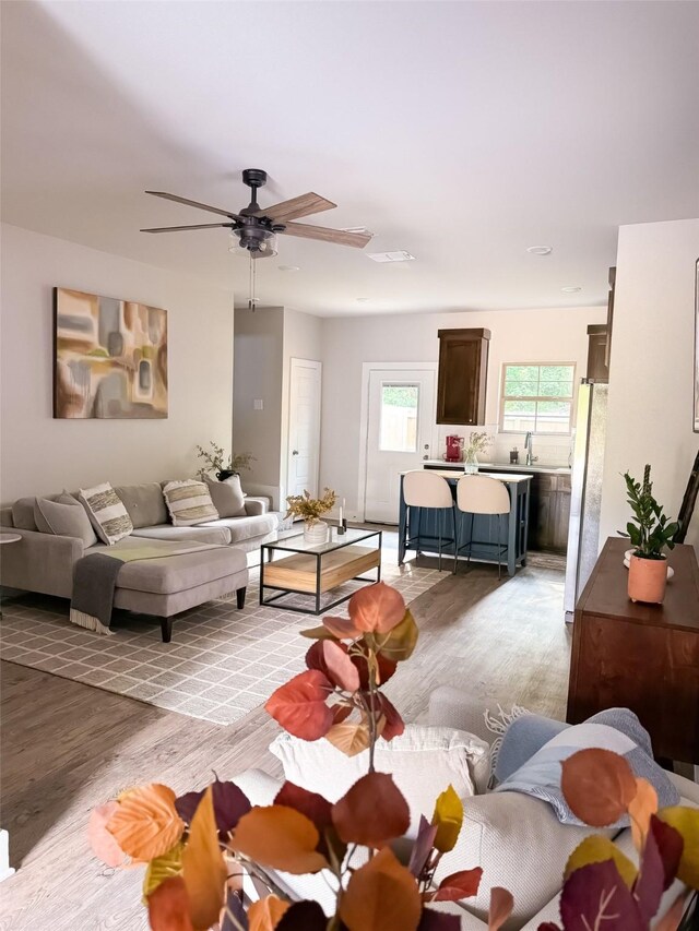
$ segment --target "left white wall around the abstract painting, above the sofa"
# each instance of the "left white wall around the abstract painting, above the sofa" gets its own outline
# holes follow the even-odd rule
[[[52,288],[168,311],[165,420],[52,418]],[[192,475],[194,446],[230,442],[233,294],[201,281],[2,226],[0,500],[109,480]]]

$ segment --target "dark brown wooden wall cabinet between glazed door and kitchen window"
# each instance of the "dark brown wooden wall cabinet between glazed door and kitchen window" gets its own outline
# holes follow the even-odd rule
[[[485,423],[489,330],[439,330],[437,422]]]

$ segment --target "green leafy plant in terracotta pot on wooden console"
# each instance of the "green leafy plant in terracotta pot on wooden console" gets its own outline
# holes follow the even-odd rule
[[[629,598],[631,601],[662,604],[667,584],[667,560],[663,549],[673,549],[677,524],[668,522],[663,506],[653,498],[651,467],[645,466],[642,484],[624,475],[628,502],[635,520],[626,525],[632,550],[629,554]]]

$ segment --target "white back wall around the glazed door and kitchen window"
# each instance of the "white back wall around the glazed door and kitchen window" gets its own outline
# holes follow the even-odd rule
[[[486,422],[494,432],[498,421],[500,373],[503,362],[549,361],[578,365],[577,379],[585,372],[587,327],[603,323],[606,308],[560,310],[469,311],[419,313],[401,317],[330,318],[323,321],[323,411],[321,485],[329,485],[347,500],[350,516],[362,515],[358,500],[359,415],[362,363],[436,361],[437,331],[450,327],[487,327],[491,331],[488,359]],[[440,435],[467,433],[470,428],[440,428]],[[484,429],[483,427],[479,429]],[[505,434],[496,444],[503,459],[513,444],[522,449],[523,434]],[[565,464],[569,440],[536,438],[534,453],[542,462]],[[441,455],[442,447],[434,450]]]

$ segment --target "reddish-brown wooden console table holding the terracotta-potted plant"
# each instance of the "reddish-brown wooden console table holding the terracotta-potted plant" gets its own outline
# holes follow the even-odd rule
[[[675,577],[662,605],[633,604],[624,552],[609,537],[576,606],[566,719],[635,712],[656,757],[699,763],[699,566],[694,548],[668,553]]]

